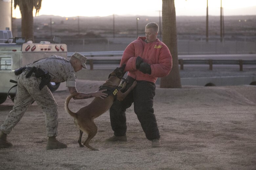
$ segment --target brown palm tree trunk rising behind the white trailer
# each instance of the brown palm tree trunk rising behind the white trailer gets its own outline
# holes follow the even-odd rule
[[[26,41],[34,41],[33,29],[33,10],[24,6],[21,10],[21,36],[26,38]]]

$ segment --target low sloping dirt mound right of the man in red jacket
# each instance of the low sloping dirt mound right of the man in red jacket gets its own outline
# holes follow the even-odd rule
[[[255,86],[227,87],[199,87],[189,86],[182,89],[156,90],[155,100],[170,103],[195,104],[201,103],[211,106],[225,105],[255,105]]]

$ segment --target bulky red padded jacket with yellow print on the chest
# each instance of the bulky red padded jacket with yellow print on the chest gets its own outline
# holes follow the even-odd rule
[[[120,66],[126,64],[128,76],[136,80],[146,80],[156,83],[157,77],[167,76],[172,69],[172,56],[168,47],[157,39],[154,42],[145,42],[146,37],[138,37],[124,50]],[[141,57],[151,67],[151,75],[136,70],[136,58]]]

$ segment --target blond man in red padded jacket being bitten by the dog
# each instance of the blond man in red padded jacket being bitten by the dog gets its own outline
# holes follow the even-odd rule
[[[134,102],[134,112],[146,138],[152,141],[152,147],[160,147],[160,133],[153,109],[153,98],[157,77],[167,76],[172,69],[172,56],[168,47],[157,38],[159,26],[148,23],[145,37],[138,37],[124,50],[120,65],[126,64],[128,72],[126,89],[134,81],[137,86],[123,101],[116,100],[110,108],[111,127],[114,136],[106,141],[127,141],[125,111]]]

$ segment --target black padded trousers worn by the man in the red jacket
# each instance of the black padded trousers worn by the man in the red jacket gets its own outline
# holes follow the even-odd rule
[[[126,78],[129,83],[128,89],[135,81],[132,77]],[[115,100],[110,108],[110,122],[115,136],[126,134],[125,111],[134,102],[134,112],[136,113],[140,125],[148,140],[160,139],[156,116],[153,109],[153,98],[155,96],[156,85],[149,81],[137,81],[136,87],[129,93],[123,101]]]

